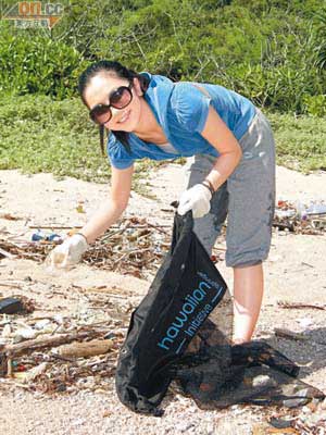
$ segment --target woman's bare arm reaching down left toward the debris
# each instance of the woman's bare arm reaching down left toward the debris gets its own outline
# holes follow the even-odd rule
[[[117,170],[112,166],[111,198],[108,199],[95,215],[82,228],[82,233],[88,244],[93,243],[111,225],[113,225],[128,204],[134,165],[126,170]]]

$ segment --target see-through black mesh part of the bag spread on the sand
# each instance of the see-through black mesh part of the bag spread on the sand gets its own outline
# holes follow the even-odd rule
[[[239,403],[293,408],[325,398],[319,389],[297,378],[299,366],[267,343],[229,347],[218,344],[217,335],[215,324],[206,320],[198,333],[199,348],[187,349],[170,368],[175,393],[191,397],[199,408]],[[225,366],[229,351],[231,360]]]

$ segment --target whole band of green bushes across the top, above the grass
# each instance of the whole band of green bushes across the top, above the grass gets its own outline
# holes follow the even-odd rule
[[[74,96],[86,64],[106,58],[175,80],[220,83],[281,112],[313,113],[310,98],[326,95],[319,0],[65,3],[48,36],[0,23],[0,90]]]

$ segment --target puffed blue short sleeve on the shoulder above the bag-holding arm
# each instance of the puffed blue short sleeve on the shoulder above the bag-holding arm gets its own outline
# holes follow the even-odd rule
[[[211,98],[191,83],[176,84],[171,97],[171,107],[177,121],[193,133],[203,130],[210,103]]]

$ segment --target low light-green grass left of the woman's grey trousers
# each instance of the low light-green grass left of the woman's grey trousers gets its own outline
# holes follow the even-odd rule
[[[58,178],[73,176],[108,183],[108,158],[102,156],[98,128],[89,121],[79,99],[54,101],[47,96],[1,97],[0,170],[50,172]],[[137,164],[134,188],[146,192],[141,178],[158,165]]]

